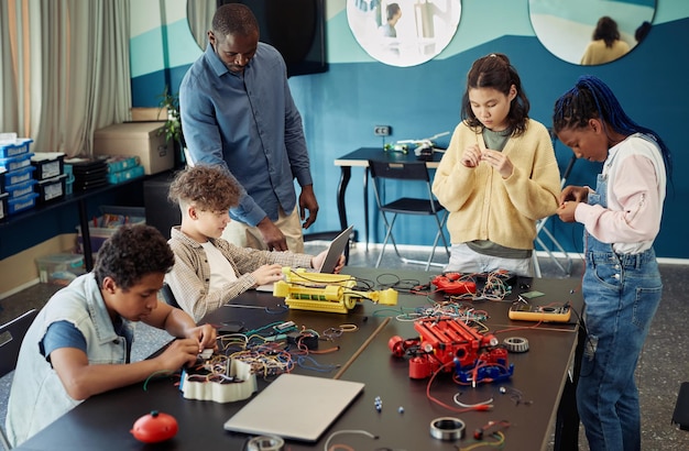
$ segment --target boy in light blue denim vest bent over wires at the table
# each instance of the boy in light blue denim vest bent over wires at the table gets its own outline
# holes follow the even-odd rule
[[[149,226],[123,226],[103,243],[92,272],[57,292],[33,321],[19,353],[7,431],[19,446],[84,399],[174,372],[216,346],[211,326],[158,301],[175,263],[165,238]],[[161,355],[130,363],[132,322],[175,340]]]

